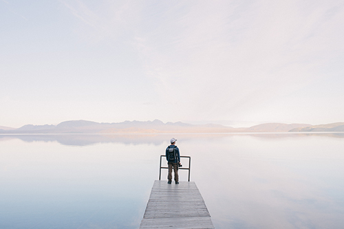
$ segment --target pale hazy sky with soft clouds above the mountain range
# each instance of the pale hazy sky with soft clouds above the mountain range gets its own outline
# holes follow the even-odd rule
[[[344,122],[344,1],[0,0],[0,126]]]

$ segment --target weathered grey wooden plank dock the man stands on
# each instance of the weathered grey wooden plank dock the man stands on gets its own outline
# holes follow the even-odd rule
[[[155,180],[140,228],[214,228],[195,182]]]

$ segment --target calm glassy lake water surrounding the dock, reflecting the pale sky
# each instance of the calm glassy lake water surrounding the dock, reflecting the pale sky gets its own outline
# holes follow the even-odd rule
[[[0,228],[138,228],[171,137],[216,228],[344,228],[333,133],[0,135]]]

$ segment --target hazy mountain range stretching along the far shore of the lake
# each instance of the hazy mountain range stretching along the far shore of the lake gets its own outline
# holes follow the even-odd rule
[[[185,122],[125,121],[92,122],[87,120],[70,120],[57,125],[26,124],[18,129],[1,127],[0,133],[236,133],[236,132],[343,132],[344,122],[331,124],[283,124],[265,123],[248,128],[226,127],[220,124],[188,124]]]

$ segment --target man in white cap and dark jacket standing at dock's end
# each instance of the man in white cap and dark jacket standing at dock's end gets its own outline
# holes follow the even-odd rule
[[[176,139],[171,138],[171,145],[166,149],[166,160],[167,164],[169,164],[169,175],[167,179],[169,179],[168,184],[172,183],[172,168],[174,171],[174,180],[175,184],[179,184],[179,176],[178,176],[178,167],[180,165],[180,153],[178,147],[175,145]]]

